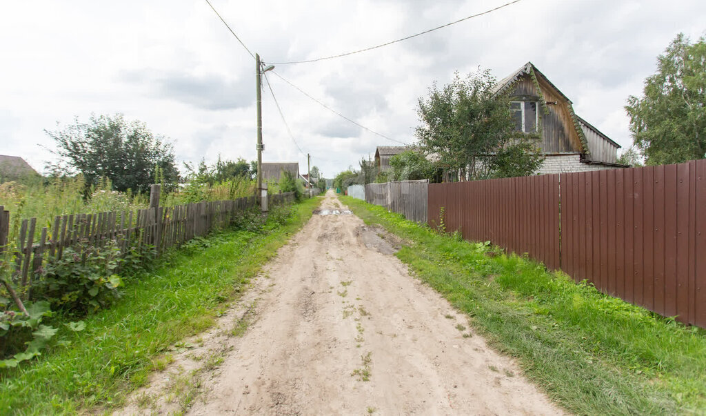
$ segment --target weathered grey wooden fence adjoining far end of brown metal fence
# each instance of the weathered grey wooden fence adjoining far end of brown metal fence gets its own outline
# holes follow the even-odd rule
[[[365,200],[384,206],[412,221],[426,222],[429,181],[401,181],[366,184]]]

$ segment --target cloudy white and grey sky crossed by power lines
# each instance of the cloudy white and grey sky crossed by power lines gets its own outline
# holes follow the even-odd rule
[[[267,62],[349,52],[486,11],[509,0],[212,0]],[[204,0],[3,1],[0,154],[42,170],[44,133],[91,113],[123,113],[174,142],[178,160],[256,158],[254,60]],[[580,116],[623,146],[623,110],[678,32],[706,32],[703,0],[521,0],[429,35],[349,57],[277,65],[275,72],[328,107],[412,143],[416,105],[454,71],[503,78],[532,61]],[[269,75],[294,140],[326,177],[376,145],[376,136]],[[58,123],[58,125],[57,125]],[[263,91],[263,160],[303,155]]]

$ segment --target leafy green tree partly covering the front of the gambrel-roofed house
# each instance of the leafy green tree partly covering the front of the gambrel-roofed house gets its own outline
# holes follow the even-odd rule
[[[495,95],[494,85],[489,70],[466,78],[456,73],[450,84],[439,89],[434,83],[419,99],[416,135],[446,181],[452,173],[460,180],[522,176],[541,165],[537,139],[515,131],[509,98]]]

